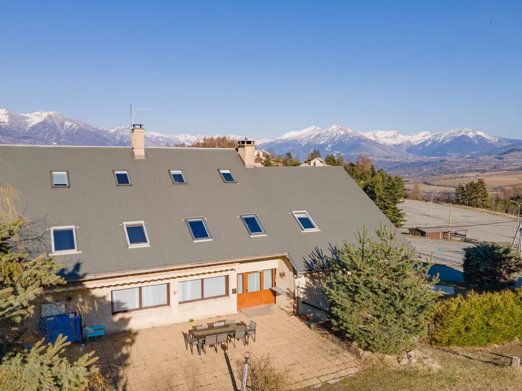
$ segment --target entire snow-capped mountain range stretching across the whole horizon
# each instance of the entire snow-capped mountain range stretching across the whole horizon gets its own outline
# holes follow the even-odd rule
[[[244,137],[227,136],[236,139]],[[204,137],[185,133],[167,135],[145,129],[147,146],[190,145]],[[57,112],[17,114],[1,108],[0,143],[125,146],[131,144],[131,131],[129,127],[97,128]],[[325,129],[311,126],[291,131],[275,140],[258,139],[257,144],[277,154],[292,152],[300,160],[304,160],[314,149],[321,151],[323,156],[341,153],[345,159],[353,160],[360,153],[393,159],[494,154],[522,146],[522,140],[490,136],[472,129],[455,128],[440,133],[420,131],[402,135],[398,131],[357,132],[336,124]]]

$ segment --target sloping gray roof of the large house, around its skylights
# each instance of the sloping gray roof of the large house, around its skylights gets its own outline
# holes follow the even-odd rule
[[[48,254],[47,229],[78,227],[81,253],[55,257],[68,278],[276,253],[304,270],[315,248],[328,254],[363,225],[389,225],[342,167],[245,168],[234,149],[147,148],[134,160],[128,147],[0,145],[0,157],[0,180],[20,192],[31,221],[26,250]],[[224,184],[220,168],[238,183]],[[182,169],[187,185],[173,185],[169,169]],[[52,188],[51,170],[68,170],[70,188]],[[128,170],[133,186],[116,186],[113,170]],[[291,212],[302,210],[320,231],[301,232]],[[258,214],[268,235],[250,237],[244,213]],[[196,216],[213,241],[193,242],[183,219]],[[129,249],[121,224],[141,220],[150,247]]]

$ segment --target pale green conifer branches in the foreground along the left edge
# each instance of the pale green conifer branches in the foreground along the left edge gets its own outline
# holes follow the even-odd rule
[[[0,196],[3,189],[0,189]],[[0,202],[5,201],[0,197]],[[56,275],[58,267],[44,255],[29,259],[27,254],[14,252],[13,238],[27,224],[21,218],[5,218],[0,205],[0,389],[73,391],[84,388],[98,374],[93,366],[97,358],[93,353],[71,363],[65,356],[69,343],[58,337],[56,343],[43,345],[42,341],[31,350],[19,341],[24,339],[22,320],[34,314],[34,302],[43,287],[64,284]]]

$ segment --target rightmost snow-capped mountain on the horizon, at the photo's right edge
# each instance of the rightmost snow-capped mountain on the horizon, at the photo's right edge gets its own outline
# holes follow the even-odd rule
[[[406,151],[423,156],[465,156],[492,153],[505,145],[518,144],[520,140],[490,136],[472,129],[455,128],[425,139]]]

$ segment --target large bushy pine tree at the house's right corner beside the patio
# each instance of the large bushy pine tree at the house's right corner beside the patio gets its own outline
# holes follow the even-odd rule
[[[376,240],[369,239],[363,228],[357,246],[345,241],[329,257],[331,272],[322,284],[328,319],[363,349],[399,353],[425,335],[435,301],[426,287],[436,279],[428,280],[430,265],[420,264],[412,249],[397,246],[392,227],[375,234]]]

